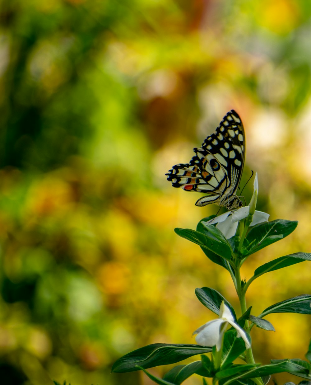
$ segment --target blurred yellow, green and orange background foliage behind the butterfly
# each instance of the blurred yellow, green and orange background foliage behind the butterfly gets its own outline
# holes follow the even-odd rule
[[[0,17],[1,382],[150,384],[112,363],[194,343],[214,318],[196,287],[238,303],[227,272],[173,231],[217,206],[194,206],[200,194],[164,175],[228,110],[246,131],[241,185],[257,171],[258,209],[299,221],[245,278],[311,251],[311,3],[2,0]],[[301,293],[307,263],[259,278],[247,300],[257,315]],[[304,358],[310,317],[268,319],[276,333],[252,330],[257,362]]]

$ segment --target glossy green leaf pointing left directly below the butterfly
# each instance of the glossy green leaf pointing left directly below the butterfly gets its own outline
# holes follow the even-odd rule
[[[182,238],[188,239],[189,241],[198,244],[202,248],[212,251],[213,253],[220,255],[225,259],[231,258],[231,248],[227,243],[219,241],[211,233],[210,236],[207,234],[200,233],[196,230],[191,229],[174,229],[175,233]]]

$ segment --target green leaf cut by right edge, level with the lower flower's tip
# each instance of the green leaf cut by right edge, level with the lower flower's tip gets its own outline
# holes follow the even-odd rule
[[[263,318],[270,313],[300,313],[311,314],[311,295],[301,294],[297,297],[289,298],[288,300],[275,303],[266,308],[259,318]]]

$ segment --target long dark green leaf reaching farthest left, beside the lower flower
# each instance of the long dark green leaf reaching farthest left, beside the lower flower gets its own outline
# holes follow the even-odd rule
[[[133,372],[139,370],[137,365],[147,369],[179,362],[188,357],[211,351],[212,348],[200,345],[153,343],[119,358],[112,365],[111,371],[115,373]]]

